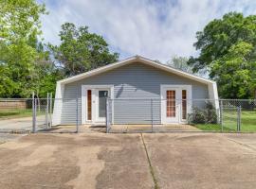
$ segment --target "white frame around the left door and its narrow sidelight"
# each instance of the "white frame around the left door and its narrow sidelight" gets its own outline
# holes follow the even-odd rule
[[[112,99],[112,120],[114,117],[114,85],[82,85],[82,124],[103,124],[102,121],[97,121],[96,117],[96,92],[98,90],[109,90],[110,98]],[[92,119],[87,120],[87,90],[92,91]]]

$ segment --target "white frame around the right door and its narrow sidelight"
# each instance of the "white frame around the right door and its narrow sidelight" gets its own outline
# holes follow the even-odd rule
[[[164,96],[166,95],[166,90],[176,90],[176,106],[178,109],[178,117],[177,121],[167,122],[166,120],[166,101],[164,100]],[[187,91],[187,113],[192,111],[192,85],[160,85],[160,97],[161,97],[161,124],[185,124],[188,122],[187,119],[182,119],[182,90]]]

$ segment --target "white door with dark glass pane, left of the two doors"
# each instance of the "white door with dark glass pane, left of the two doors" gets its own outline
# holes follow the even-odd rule
[[[110,95],[109,89],[96,89],[95,91],[95,110],[96,122],[105,122],[106,120],[106,98]]]

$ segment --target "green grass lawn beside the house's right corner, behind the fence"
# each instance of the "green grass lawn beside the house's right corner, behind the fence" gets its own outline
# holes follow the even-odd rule
[[[196,128],[209,131],[221,131],[221,126],[217,124],[197,124]],[[236,112],[224,112],[223,130],[237,130],[237,114]],[[241,113],[241,131],[256,131],[256,112],[242,111]]]

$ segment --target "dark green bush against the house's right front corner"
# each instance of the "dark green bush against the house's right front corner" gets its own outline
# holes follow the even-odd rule
[[[189,124],[216,124],[217,114],[214,106],[211,103],[207,103],[205,109],[199,109],[198,107],[192,108],[192,113],[188,115]]]

